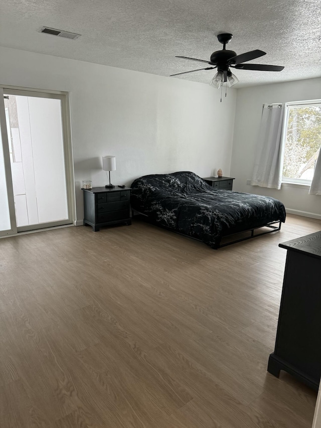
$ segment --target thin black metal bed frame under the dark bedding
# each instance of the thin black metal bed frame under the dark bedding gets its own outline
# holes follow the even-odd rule
[[[136,213],[136,215],[134,213]],[[155,221],[152,221],[146,214],[140,213],[139,211],[132,210],[132,218],[134,218],[134,215],[135,217],[139,217],[141,220],[146,221],[147,223],[153,224],[154,226],[162,227],[163,229],[178,233],[179,235],[187,236],[188,238],[192,238],[192,239],[195,239],[196,241],[203,242],[201,239],[194,238],[193,236],[187,235],[186,233],[178,232],[177,230],[173,230],[170,227],[157,224]],[[264,232],[254,234],[255,230],[261,229],[262,227],[268,227],[269,229],[272,229],[272,230],[265,230]],[[279,230],[281,230],[281,220],[271,221],[270,223],[262,224],[261,226],[256,226],[251,229],[245,229],[245,230],[241,230],[240,232],[220,236],[216,240],[216,243],[213,248],[218,249],[218,248],[226,247],[227,245],[235,244],[236,242],[246,241],[247,239],[256,238],[257,236],[266,235],[267,233],[277,232]],[[251,234],[249,236],[237,238],[237,235],[240,235],[241,233],[247,233],[247,232],[250,232]],[[221,244],[222,239],[233,237],[233,236],[235,236],[236,239],[232,241],[224,242],[223,244]]]

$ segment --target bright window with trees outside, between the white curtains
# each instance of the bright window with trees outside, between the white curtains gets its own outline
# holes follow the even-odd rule
[[[321,103],[289,105],[282,182],[310,184],[321,146]]]

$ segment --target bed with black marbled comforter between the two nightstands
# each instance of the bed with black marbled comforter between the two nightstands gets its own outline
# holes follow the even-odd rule
[[[146,175],[134,180],[131,189],[134,213],[212,248],[275,232],[285,221],[284,205],[277,199],[214,189],[189,171]],[[250,235],[236,235],[245,231]],[[227,236],[232,239],[222,243]]]

